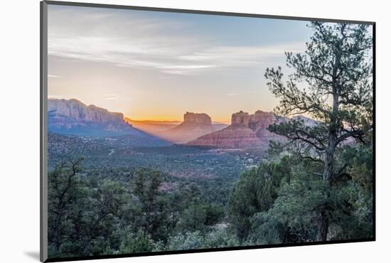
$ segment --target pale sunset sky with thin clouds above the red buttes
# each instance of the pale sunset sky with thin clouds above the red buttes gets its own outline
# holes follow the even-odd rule
[[[48,97],[136,120],[272,111],[266,68],[304,52],[306,21],[48,6]]]

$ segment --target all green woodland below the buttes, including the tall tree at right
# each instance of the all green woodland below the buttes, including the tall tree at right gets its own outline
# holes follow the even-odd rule
[[[311,125],[271,124],[267,152],[50,134],[49,257],[373,238],[372,38],[309,26],[294,73],[264,76],[274,114]]]

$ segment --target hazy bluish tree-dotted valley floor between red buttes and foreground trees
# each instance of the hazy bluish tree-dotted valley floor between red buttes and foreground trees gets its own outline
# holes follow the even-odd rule
[[[127,136],[83,137],[49,134],[49,163],[83,156],[90,168],[149,167],[178,178],[235,178],[259,163],[261,149],[216,149],[207,146],[140,146]],[[53,168],[53,167],[50,167]]]

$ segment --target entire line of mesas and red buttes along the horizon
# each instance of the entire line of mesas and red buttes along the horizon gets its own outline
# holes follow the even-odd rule
[[[316,125],[316,121],[308,117],[296,116],[292,119],[300,120],[306,126]],[[272,112],[257,110],[254,114],[242,111],[232,114],[229,126],[212,122],[208,114],[195,112],[183,114],[183,122],[132,121],[122,113],[109,112],[95,105],[87,106],[79,100],[48,100],[48,132],[92,137],[132,136],[132,145],[140,145],[139,142],[143,141],[141,144],[145,143],[146,146],[174,143],[232,149],[267,149],[270,140],[284,140],[283,136],[273,134],[267,128],[270,124],[286,120],[287,118],[277,119]]]

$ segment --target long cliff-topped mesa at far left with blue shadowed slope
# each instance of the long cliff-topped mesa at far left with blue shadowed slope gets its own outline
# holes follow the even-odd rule
[[[48,100],[48,130],[58,134],[82,136],[146,136],[124,122],[124,115],[89,105],[79,100]]]

